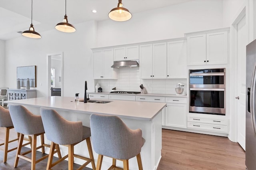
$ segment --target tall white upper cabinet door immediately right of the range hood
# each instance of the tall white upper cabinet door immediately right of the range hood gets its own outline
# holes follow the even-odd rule
[[[140,45],[140,78],[152,78],[152,44]]]

